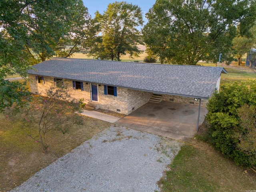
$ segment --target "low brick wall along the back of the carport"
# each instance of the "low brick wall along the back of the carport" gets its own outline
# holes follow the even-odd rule
[[[162,96],[163,96],[163,101],[175,102],[175,103],[186,103],[186,104],[199,106],[199,100],[195,101],[194,98],[182,97],[182,96],[176,96],[176,95],[166,95],[166,94],[162,94]],[[202,99],[201,106],[206,107],[207,103],[208,103],[207,99]]]

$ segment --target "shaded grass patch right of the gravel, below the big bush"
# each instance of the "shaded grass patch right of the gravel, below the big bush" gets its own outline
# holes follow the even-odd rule
[[[204,142],[191,139],[159,182],[164,192],[233,192],[256,189],[256,174],[224,158]]]

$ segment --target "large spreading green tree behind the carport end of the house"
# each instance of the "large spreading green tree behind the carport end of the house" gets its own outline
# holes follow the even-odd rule
[[[144,42],[162,63],[217,62],[230,53],[236,26],[252,26],[255,9],[253,0],[157,0],[146,14]]]

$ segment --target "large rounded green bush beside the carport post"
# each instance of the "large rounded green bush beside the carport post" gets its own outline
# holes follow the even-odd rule
[[[240,166],[256,165],[256,81],[221,86],[207,109],[210,141]]]

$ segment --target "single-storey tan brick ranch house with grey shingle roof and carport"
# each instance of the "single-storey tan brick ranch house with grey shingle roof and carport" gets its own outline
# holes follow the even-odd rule
[[[30,90],[45,90],[61,81],[71,98],[84,99],[94,107],[130,114],[147,102],[186,102],[199,105],[219,90],[224,68],[146,64],[108,60],[52,58],[28,70]]]

